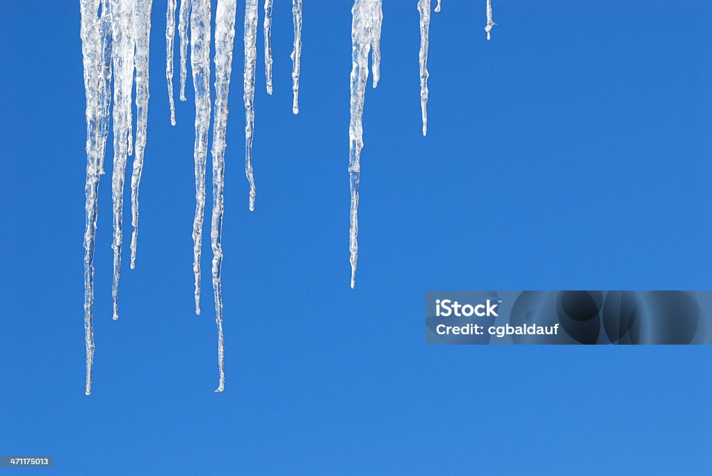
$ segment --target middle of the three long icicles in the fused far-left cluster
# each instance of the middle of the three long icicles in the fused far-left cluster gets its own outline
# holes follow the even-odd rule
[[[112,60],[114,68],[114,164],[111,176],[114,236],[113,319],[119,318],[118,292],[121,271],[122,217],[126,179],[127,137],[130,122],[131,89],[134,70],[134,9],[132,0],[110,0]]]

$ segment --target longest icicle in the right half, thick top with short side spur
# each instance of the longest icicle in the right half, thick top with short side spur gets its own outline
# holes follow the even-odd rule
[[[360,157],[363,148],[363,106],[368,80],[368,53],[380,41],[382,18],[381,0],[354,0],[351,9],[351,120],[349,123],[349,178],[351,188],[351,287],[355,286],[358,259],[358,186],[361,173]]]

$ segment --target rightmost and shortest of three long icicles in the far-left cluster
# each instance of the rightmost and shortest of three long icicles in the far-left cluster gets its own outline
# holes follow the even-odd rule
[[[151,8],[153,0],[136,0],[136,156],[131,174],[131,269],[136,267],[138,238],[138,187],[143,171],[148,122],[148,56],[151,40]]]

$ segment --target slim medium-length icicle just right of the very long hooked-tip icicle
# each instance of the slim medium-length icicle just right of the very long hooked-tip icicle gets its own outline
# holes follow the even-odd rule
[[[255,65],[257,61],[257,0],[245,0],[245,175],[250,184],[250,211],[255,209],[255,179],[252,174],[252,139],[255,127]]]

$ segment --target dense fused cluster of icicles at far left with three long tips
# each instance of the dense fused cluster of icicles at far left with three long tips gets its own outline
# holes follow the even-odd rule
[[[131,174],[131,268],[135,266],[138,235],[138,190],[146,146],[148,113],[148,53],[152,0],[80,0],[84,86],[87,120],[86,224],[84,231],[84,331],[86,342],[86,386],[91,393],[94,358],[93,302],[94,247],[97,196],[104,174],[104,155],[113,122],[113,169],[111,177],[114,277],[113,318],[118,319],[118,284],[122,246],[122,207],[127,156],[133,154],[132,98],[136,77],[136,144]],[[113,108],[111,81],[113,76]]]

